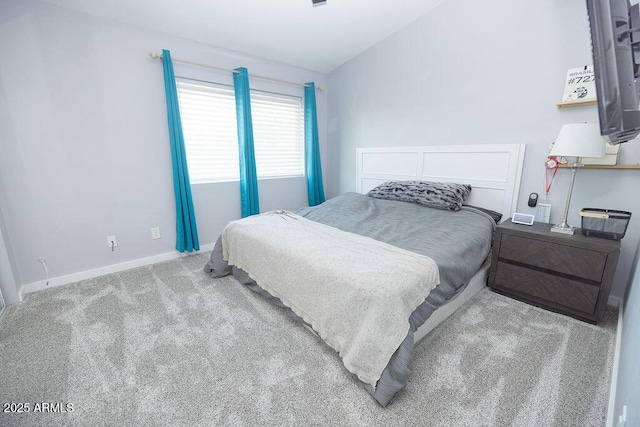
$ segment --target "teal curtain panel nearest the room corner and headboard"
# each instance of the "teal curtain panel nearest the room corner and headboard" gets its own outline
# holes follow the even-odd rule
[[[305,83],[304,88],[304,145],[305,168],[307,170],[307,193],[309,206],[325,201],[318,139],[318,116],[316,114],[316,86]]]

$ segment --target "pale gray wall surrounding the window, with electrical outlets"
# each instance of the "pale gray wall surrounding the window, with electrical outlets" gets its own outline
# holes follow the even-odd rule
[[[0,2],[0,206],[17,285],[168,253],[175,205],[162,63],[174,58],[290,81],[326,75],[30,0]],[[177,75],[232,84],[229,73],[175,63]],[[251,80],[254,89],[301,88]],[[317,94],[326,157],[327,96]],[[263,210],[307,204],[304,178],[259,183]],[[193,187],[201,245],[240,217],[239,184]],[[151,240],[159,226],[162,239]],[[111,252],[106,236],[116,235]]]

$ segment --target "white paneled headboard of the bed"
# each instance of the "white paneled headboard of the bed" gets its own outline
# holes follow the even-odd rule
[[[465,204],[501,212],[516,210],[525,144],[474,144],[358,148],[356,191],[385,181],[424,180],[471,185]]]

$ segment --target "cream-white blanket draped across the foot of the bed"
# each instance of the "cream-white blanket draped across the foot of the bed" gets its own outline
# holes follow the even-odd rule
[[[409,331],[409,316],[439,283],[431,258],[287,211],[230,222],[223,257],[303,318],[376,386]]]

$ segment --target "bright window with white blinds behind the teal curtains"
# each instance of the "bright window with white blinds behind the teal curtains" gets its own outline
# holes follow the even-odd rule
[[[232,87],[176,79],[191,182],[238,181]],[[251,91],[258,179],[304,176],[304,110],[299,97]]]

